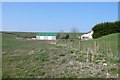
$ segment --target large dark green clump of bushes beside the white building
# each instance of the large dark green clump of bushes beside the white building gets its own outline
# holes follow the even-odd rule
[[[104,22],[95,25],[92,30],[93,38],[99,38],[112,33],[120,33],[120,21],[116,22]]]

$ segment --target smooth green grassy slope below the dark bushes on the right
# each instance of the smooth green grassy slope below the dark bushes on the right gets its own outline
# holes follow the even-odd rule
[[[110,34],[94,40],[82,41],[81,45],[83,48],[95,49],[96,52],[102,53],[107,60],[110,58],[113,60],[118,58],[118,35],[120,33]]]

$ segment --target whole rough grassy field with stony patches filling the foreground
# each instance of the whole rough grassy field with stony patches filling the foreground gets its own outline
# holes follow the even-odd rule
[[[2,33],[2,77],[117,78],[118,35],[53,44]]]

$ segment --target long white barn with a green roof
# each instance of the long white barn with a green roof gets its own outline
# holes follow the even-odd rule
[[[38,40],[56,40],[58,33],[54,32],[39,32],[36,34]]]

